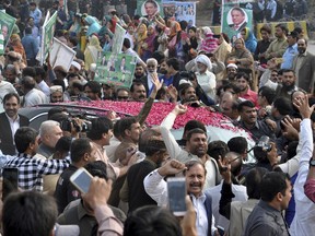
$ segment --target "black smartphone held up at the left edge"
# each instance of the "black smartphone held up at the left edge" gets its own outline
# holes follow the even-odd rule
[[[11,192],[18,191],[19,169],[3,168],[2,177],[2,201],[4,201]]]

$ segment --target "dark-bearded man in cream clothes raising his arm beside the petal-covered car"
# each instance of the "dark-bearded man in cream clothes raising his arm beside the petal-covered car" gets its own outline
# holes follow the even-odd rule
[[[185,114],[187,107],[177,105],[165,117],[161,123],[161,134],[165,142],[167,152],[172,158],[186,163],[191,160],[201,161],[207,169],[206,186],[213,187],[220,182],[221,176],[219,174],[215,160],[207,154],[208,151],[208,138],[207,132],[200,128],[195,128],[188,131],[186,137],[185,148],[176,142],[174,135],[171,133],[171,128],[178,115]]]

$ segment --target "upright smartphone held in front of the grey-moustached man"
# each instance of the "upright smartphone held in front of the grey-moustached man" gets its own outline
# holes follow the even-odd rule
[[[174,215],[183,216],[186,213],[185,198],[186,181],[185,177],[167,178],[168,206]]]

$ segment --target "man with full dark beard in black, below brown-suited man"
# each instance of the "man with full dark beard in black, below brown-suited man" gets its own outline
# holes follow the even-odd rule
[[[311,67],[311,64],[310,64]],[[276,97],[287,97],[291,99],[291,94],[298,91],[295,86],[296,76],[293,70],[284,70],[282,84],[279,84],[276,90]],[[311,85],[311,84],[310,84]]]

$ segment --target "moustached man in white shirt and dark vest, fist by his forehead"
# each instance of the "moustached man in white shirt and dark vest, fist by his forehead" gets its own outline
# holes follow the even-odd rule
[[[143,185],[147,193],[158,202],[158,205],[166,205],[168,198],[172,198],[172,196],[168,196],[167,184],[164,178],[180,172],[184,172],[187,193],[190,196],[196,210],[198,235],[219,236],[219,232],[214,227],[214,217],[211,209],[212,199],[202,191],[206,181],[206,168],[201,162],[189,161],[185,165],[175,160],[167,162],[144,178]],[[177,201],[185,201],[185,199],[178,199]]]

